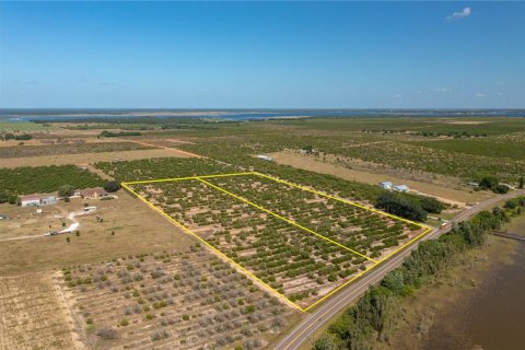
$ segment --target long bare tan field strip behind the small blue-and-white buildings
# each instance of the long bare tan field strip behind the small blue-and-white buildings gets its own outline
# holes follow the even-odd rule
[[[350,179],[354,182],[365,183],[370,185],[377,185],[381,182],[392,182],[393,184],[405,184],[410,189],[417,190],[418,192],[429,195],[438,198],[441,201],[447,202],[450,205],[464,206],[465,203],[471,203],[482,200],[493,196],[490,192],[482,191],[472,191],[468,190],[465,187],[460,187],[457,179],[450,179],[448,186],[443,182],[439,184],[436,182],[431,183],[407,179],[405,177],[396,177],[389,174],[380,173],[377,168],[364,171],[355,170],[353,167],[347,167],[340,165],[341,163],[330,162],[335,161],[329,156],[326,156],[324,160],[316,158],[306,153],[295,153],[295,152],[278,152],[271,153],[271,156],[279,164],[290,165],[298,168],[304,168],[308,171],[316,171],[319,173],[326,173],[335,176],[339,176],[345,179]],[[456,187],[456,188],[454,188]]]

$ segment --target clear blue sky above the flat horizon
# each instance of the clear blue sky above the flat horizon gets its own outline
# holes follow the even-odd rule
[[[523,2],[2,2],[0,107],[525,107]]]

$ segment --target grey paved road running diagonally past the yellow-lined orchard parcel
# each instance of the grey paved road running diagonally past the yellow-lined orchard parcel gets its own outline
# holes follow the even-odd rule
[[[459,214],[454,217],[452,221],[459,222],[467,220],[481,210],[491,209],[501,200],[506,200],[523,195],[525,195],[525,190],[522,189],[487,199],[462,211]],[[436,238],[440,235],[448,232],[451,226],[452,225],[434,229],[421,241]],[[355,283],[351,283],[348,288],[343,289],[341,292],[323,303],[322,306],[311,313],[303,322],[301,322],[301,324],[299,324],[289,335],[287,335],[276,346],[276,350],[296,350],[300,349],[300,347],[306,340],[311,341],[312,335],[314,335],[317,329],[323,327],[326,323],[330,322],[332,317],[347,308],[348,305],[361,296],[370,285],[380,282],[388,271],[401,265],[405,257],[407,257],[410,252],[417,247],[417,245],[418,244],[410,246],[389,260],[383,262],[381,266],[360,278]]]

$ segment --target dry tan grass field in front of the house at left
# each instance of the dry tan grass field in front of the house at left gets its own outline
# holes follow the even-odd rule
[[[63,218],[55,218],[58,211],[61,217],[67,217],[69,212],[81,211],[84,202],[97,207],[94,214],[75,218],[80,222],[80,236],[67,235],[70,243],[66,242],[65,235],[1,242],[0,275],[60,269],[74,264],[101,261],[116,255],[173,250],[191,244],[187,235],[167,221],[159,220],[140,201],[124,191],[117,195],[118,199],[114,200],[72,199],[70,203],[43,207],[43,217],[20,207],[0,205],[0,213],[5,211],[13,218],[0,221],[0,232],[4,237],[44,234],[49,231],[49,225],[57,229],[61,228],[62,222],[67,225],[71,223]],[[103,222],[96,222],[97,215]]]

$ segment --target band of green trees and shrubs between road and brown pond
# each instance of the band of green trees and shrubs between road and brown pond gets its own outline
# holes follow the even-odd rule
[[[522,212],[525,197],[509,201],[505,209],[495,207],[471,220],[460,222],[438,240],[421,242],[419,247],[383,281],[372,287],[358,303],[337,318],[315,342],[315,350],[372,350],[388,341],[402,311],[401,299],[454,266],[458,256],[482,245],[493,230]]]

